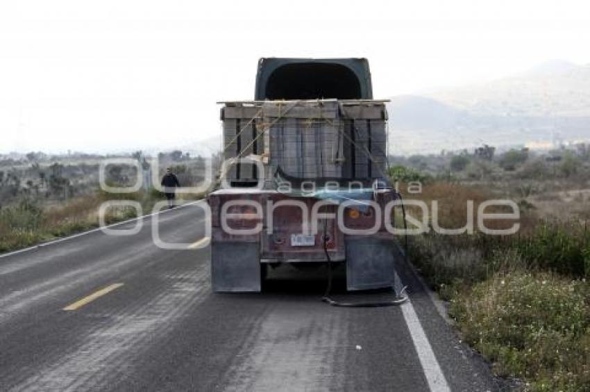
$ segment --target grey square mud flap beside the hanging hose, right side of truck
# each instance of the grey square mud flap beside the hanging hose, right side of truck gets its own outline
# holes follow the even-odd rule
[[[397,288],[394,243],[391,238],[346,238],[346,288]]]

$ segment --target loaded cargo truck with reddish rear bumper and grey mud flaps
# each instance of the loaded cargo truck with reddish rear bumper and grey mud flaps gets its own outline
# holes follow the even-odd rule
[[[345,263],[350,291],[394,286],[385,103],[365,58],[261,58],[254,99],[220,102],[214,291],[260,291],[281,263]]]

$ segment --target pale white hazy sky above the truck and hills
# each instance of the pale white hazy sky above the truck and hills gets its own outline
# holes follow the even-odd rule
[[[380,98],[589,47],[587,1],[3,1],[0,153],[199,145],[262,56],[369,58]]]

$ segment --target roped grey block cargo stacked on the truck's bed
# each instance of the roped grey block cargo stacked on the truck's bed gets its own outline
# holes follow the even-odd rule
[[[384,100],[225,101],[224,159],[259,156],[265,177],[278,168],[300,179],[385,177]],[[230,183],[257,182],[254,165],[236,163]]]

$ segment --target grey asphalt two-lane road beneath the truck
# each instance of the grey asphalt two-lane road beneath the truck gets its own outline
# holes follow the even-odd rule
[[[329,307],[321,269],[278,268],[264,293],[214,294],[209,247],[162,250],[153,219],[133,236],[94,231],[0,258],[0,390],[500,389],[405,266],[403,307]],[[195,206],[158,221],[162,240],[204,236]]]

